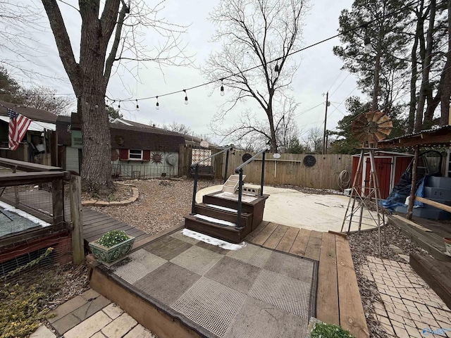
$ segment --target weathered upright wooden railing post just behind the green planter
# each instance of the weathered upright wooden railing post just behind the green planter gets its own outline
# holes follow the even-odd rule
[[[85,261],[85,249],[83,246],[83,224],[82,224],[82,197],[80,176],[70,176],[70,220],[73,224],[72,230],[72,259],[75,265]]]

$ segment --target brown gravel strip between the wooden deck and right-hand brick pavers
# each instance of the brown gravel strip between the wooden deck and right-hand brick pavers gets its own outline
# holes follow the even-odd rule
[[[373,318],[373,314],[375,313],[373,302],[379,301],[383,303],[383,301],[379,295],[376,284],[368,280],[361,269],[366,265],[366,256],[378,256],[378,232],[377,230],[372,230],[369,232],[361,232],[360,234],[354,233],[350,234],[348,238],[350,240],[352,261],[354,262],[354,269],[357,276],[357,283],[359,284],[360,296],[362,297],[370,337],[388,337],[385,330],[383,330],[381,325]],[[414,244],[410,239],[405,237],[397,227],[389,223],[381,229],[381,258],[405,263],[405,261],[393,251],[393,246],[400,248],[405,255],[409,255],[409,253],[421,253],[428,256],[426,250],[421,249]]]

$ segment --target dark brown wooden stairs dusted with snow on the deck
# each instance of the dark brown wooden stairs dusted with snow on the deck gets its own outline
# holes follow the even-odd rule
[[[202,203],[194,206],[194,212],[185,216],[185,227],[226,242],[242,242],[242,239],[261,223],[264,202],[268,195],[243,192],[238,226],[238,185],[238,175],[230,175],[221,191],[204,195]],[[255,224],[257,222],[258,224]]]

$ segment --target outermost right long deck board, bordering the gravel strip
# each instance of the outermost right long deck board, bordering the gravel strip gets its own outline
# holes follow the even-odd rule
[[[339,236],[335,236],[335,245],[337,247],[340,325],[345,330],[350,330],[356,338],[369,337],[350,246],[346,239]]]

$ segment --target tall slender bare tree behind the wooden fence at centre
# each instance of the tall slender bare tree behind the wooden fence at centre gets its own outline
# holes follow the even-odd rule
[[[210,55],[204,74],[233,89],[216,121],[239,101],[254,99],[266,114],[272,151],[277,148],[274,104],[283,99],[297,70],[290,54],[300,47],[305,11],[302,0],[223,0],[210,16],[218,26],[213,39],[222,42],[222,49]]]

